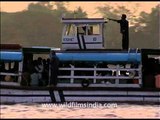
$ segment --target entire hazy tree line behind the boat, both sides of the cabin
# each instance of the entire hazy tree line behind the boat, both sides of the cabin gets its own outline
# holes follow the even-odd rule
[[[38,2],[29,4],[28,9],[21,12],[1,12],[1,43],[61,47],[61,17],[87,17],[87,13],[81,7],[69,11],[65,4],[65,2],[54,4]],[[131,48],[160,47],[159,6],[152,8],[151,13],[141,12],[136,18],[134,13],[124,6],[113,8],[105,5],[98,7],[97,10],[104,18],[120,19],[122,13],[127,14],[132,24],[129,29]],[[108,22],[105,26],[105,47],[121,47],[119,25],[114,22]]]

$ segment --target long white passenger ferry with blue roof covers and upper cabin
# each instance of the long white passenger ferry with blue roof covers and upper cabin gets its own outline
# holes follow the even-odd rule
[[[0,102],[133,102],[160,104],[160,49],[104,49],[104,18],[62,18],[62,48],[1,44]],[[55,54],[54,54],[55,53]],[[59,60],[57,85],[24,77],[43,56]],[[53,80],[54,81],[54,80]]]

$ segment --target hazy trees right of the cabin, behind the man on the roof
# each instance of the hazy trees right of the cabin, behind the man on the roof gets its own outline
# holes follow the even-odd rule
[[[134,11],[131,12],[124,6],[113,8],[105,5],[98,7],[97,10],[104,18],[119,19],[123,13],[129,16],[128,20],[131,23],[129,29],[130,48],[160,48],[160,10],[158,5],[152,8],[151,13],[141,12],[139,17],[135,16]],[[106,48],[120,48],[121,37],[118,30],[117,24],[113,22],[106,24]]]

